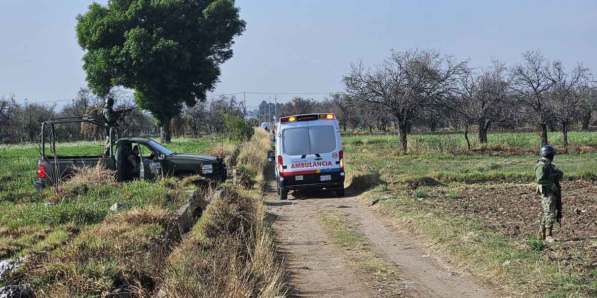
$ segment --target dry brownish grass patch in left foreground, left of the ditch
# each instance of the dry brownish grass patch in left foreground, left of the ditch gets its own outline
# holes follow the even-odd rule
[[[38,297],[106,297],[115,289],[148,297],[170,252],[173,216],[160,207],[119,213],[61,250],[36,254],[23,281]]]

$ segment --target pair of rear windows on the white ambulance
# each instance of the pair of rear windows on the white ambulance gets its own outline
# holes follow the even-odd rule
[[[282,131],[282,150],[288,155],[330,153],[336,150],[334,126],[285,129]]]

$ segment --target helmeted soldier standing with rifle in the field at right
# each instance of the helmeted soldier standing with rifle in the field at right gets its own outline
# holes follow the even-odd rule
[[[561,220],[561,187],[559,182],[564,172],[553,164],[556,151],[550,145],[544,145],[539,151],[541,159],[537,161],[535,173],[537,174],[537,194],[541,195],[541,240],[549,243],[556,241],[553,238],[553,224]],[[559,203],[559,204],[558,204]]]

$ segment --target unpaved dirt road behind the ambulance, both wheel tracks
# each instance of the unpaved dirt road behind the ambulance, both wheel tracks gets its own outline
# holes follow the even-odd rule
[[[276,217],[274,228],[295,289],[292,297],[385,297],[371,276],[355,268],[344,250],[325,233],[317,220],[319,212],[344,216],[378,257],[398,268],[409,281],[401,296],[501,297],[467,275],[441,268],[415,238],[381,221],[355,196],[327,195],[289,195],[290,200],[281,201],[275,182],[270,184],[268,211]]]

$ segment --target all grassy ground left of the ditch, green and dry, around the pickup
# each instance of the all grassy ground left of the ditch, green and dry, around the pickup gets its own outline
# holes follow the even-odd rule
[[[61,149],[64,154],[94,154],[96,147],[78,142]],[[174,140],[168,147],[215,153],[230,145],[186,139]],[[31,152],[24,146],[4,151],[10,156]],[[97,296],[118,288],[139,296],[149,294],[171,244],[180,237],[173,215],[189,200],[184,181],[116,183],[112,173],[94,167],[64,182],[57,195],[53,188],[32,191],[29,182],[35,173],[31,168],[19,169],[13,164],[2,172],[7,183],[1,190],[0,253],[2,259],[27,254],[29,260],[2,284],[30,283],[38,294],[53,297]],[[116,202],[124,203],[124,208],[110,212],[109,206]]]

